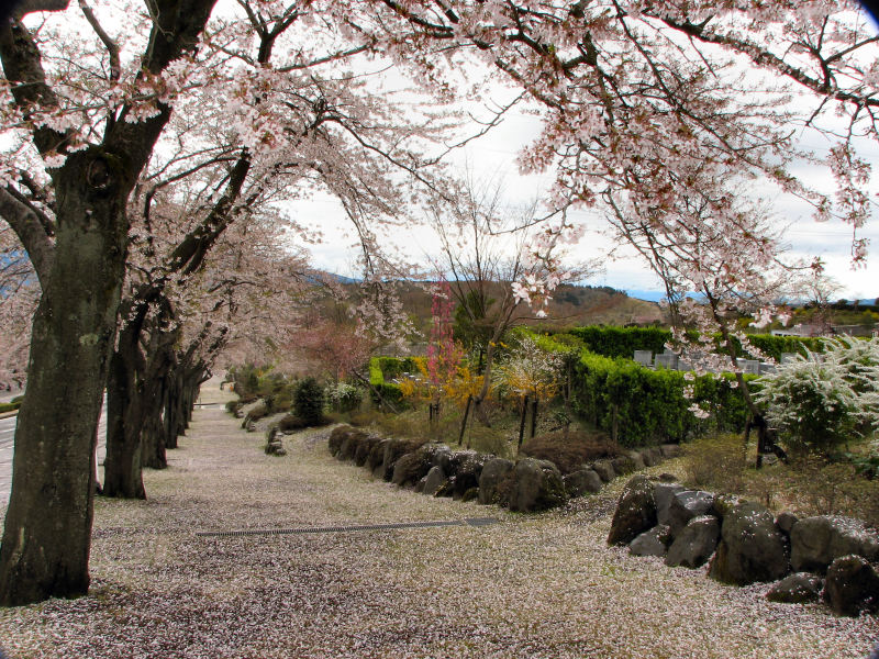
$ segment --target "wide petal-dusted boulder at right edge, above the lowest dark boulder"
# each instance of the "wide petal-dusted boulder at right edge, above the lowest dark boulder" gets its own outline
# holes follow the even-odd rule
[[[794,570],[824,572],[835,558],[854,554],[879,559],[879,538],[858,520],[820,515],[797,522],[790,530]]]

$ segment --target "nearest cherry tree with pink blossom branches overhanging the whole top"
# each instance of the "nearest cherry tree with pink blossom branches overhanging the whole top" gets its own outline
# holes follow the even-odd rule
[[[389,185],[397,170],[431,183],[422,174],[431,159],[401,146],[399,108],[376,94],[354,111],[348,101],[364,89],[360,76],[327,80],[308,70],[360,53],[416,70],[439,99],[455,97],[458,67],[470,55],[524,89],[543,108],[545,130],[520,160],[525,170],[555,168],[554,209],[614,202],[650,209],[646,221],[675,223],[675,200],[699,192],[700,177],[691,175],[700,165],[708,178],[734,171],[803,197],[820,217],[839,216],[853,230],[853,258],[866,258],[859,230],[870,211],[869,168],[855,138],[877,136],[879,65],[877,36],[849,0],[254,1],[205,31],[213,4],[92,9],[81,0],[63,15],[25,22],[20,14],[0,26],[8,81],[0,121],[10,137],[0,215],[42,288],[0,545],[0,603],[87,589],[94,428],[130,203],[173,118],[190,137],[171,139],[175,155],[159,156],[167,165],[152,171],[168,179],[211,166],[224,172],[200,192],[190,188],[203,208],[222,212],[202,215],[209,222],[181,243],[177,270],[185,275],[234,219],[245,187],[271,188],[278,172],[326,177],[365,243],[375,242],[367,226],[374,212],[401,221],[409,204],[400,200],[418,203],[411,190]],[[827,118],[835,112],[844,125],[834,131],[839,124]],[[234,138],[218,147],[199,133],[202,120]],[[442,123],[425,119],[415,137]],[[826,156],[797,145],[792,129],[813,126],[834,139]],[[347,141],[327,150],[318,136],[331,127]],[[351,167],[370,154],[381,157]],[[799,156],[827,167],[835,196],[797,179]],[[557,223],[535,233],[534,246],[545,253],[577,233]],[[539,295],[556,281],[545,268],[516,292]]]

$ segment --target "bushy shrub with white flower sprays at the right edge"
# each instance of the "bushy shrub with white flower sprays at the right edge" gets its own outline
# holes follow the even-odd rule
[[[828,339],[758,382],[755,400],[793,450],[826,453],[879,427],[879,338]]]

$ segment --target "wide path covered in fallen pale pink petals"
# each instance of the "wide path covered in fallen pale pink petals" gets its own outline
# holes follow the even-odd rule
[[[229,394],[208,382],[201,402]],[[432,499],[329,456],[326,431],[263,454],[196,411],[146,502],[99,500],[92,589],[0,610],[24,658],[863,658],[877,618],[764,600],[604,544],[613,498],[536,516]],[[666,465],[665,469],[668,469]],[[450,521],[485,527],[201,537],[199,530]]]

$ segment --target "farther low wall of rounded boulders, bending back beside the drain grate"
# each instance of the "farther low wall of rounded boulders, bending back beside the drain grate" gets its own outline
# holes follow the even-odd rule
[[[574,496],[598,492],[617,476],[657,465],[680,450],[666,445],[628,451],[563,477],[548,460],[522,458],[514,462],[474,450],[452,450],[444,444],[380,437],[346,425],[333,429],[329,446],[337,459],[353,461],[402,488],[520,512],[545,511]]]

